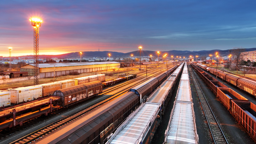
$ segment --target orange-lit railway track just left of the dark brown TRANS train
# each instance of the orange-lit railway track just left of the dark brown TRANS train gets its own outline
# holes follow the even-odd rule
[[[157,71],[158,71],[157,73],[152,72],[152,73],[154,73],[154,74],[151,74],[151,76],[149,76],[149,77],[153,77],[153,76],[155,76],[155,75],[158,75],[158,74],[159,74],[159,71],[160,71],[160,73],[161,73],[161,70],[157,70]],[[143,74],[142,74],[142,75],[143,75]],[[140,78],[140,79],[143,79],[143,77]],[[135,82],[135,81],[138,81],[138,79],[133,80],[133,82]],[[144,82],[144,81],[142,81],[142,82]],[[136,83],[136,85],[137,85],[137,84],[140,84],[140,83],[142,83],[142,82]],[[128,83],[131,84],[132,82],[128,82]],[[125,84],[123,84],[123,85],[126,85],[126,86],[127,86],[127,83],[125,83]],[[55,130],[61,128],[61,127],[64,126],[65,124],[70,123],[70,122],[72,122],[72,121],[78,119],[79,117],[82,117],[82,115],[85,115],[86,113],[88,113],[88,112],[90,112],[90,111],[93,111],[93,110],[96,109],[97,107],[99,107],[99,106],[101,106],[101,105],[107,103],[108,101],[110,101],[110,100],[112,100],[112,99],[115,99],[115,98],[121,96],[123,93],[127,92],[130,88],[132,88],[132,87],[134,87],[134,86],[135,86],[134,84],[133,84],[133,85],[131,84],[130,86],[126,87],[125,89],[120,90],[118,93],[115,93],[115,94],[109,96],[108,98],[103,99],[102,101],[100,101],[100,102],[98,102],[98,103],[96,103],[96,104],[94,104],[94,105],[91,105],[91,106],[89,106],[89,107],[87,107],[87,108],[85,108],[85,109],[83,109],[83,110],[81,110],[81,111],[78,111],[78,112],[76,112],[76,113],[74,113],[74,114],[72,114],[72,115],[70,115],[70,116],[64,117],[64,118],[62,118],[62,119],[56,121],[55,123],[52,123],[52,124],[50,124],[50,125],[47,125],[46,127],[43,127],[43,128],[41,128],[41,129],[39,129],[39,130],[36,130],[36,131],[34,131],[33,133],[31,133],[31,134],[29,134],[29,135],[26,135],[26,136],[24,136],[24,137],[22,137],[22,138],[20,138],[20,139],[18,139],[18,140],[16,140],[16,141],[13,141],[11,144],[32,143],[32,142],[34,142],[34,141],[36,141],[36,140],[38,140],[38,139],[40,139],[40,138],[43,138],[44,136],[48,135],[49,133],[51,133],[51,132],[53,132],[53,131],[55,131]],[[118,88],[120,88],[120,87],[121,87],[121,86],[118,86]],[[116,89],[118,89],[118,88],[113,88],[113,89],[116,90]],[[112,91],[113,91],[113,90],[112,90]],[[108,92],[108,93],[109,93],[109,92]]]

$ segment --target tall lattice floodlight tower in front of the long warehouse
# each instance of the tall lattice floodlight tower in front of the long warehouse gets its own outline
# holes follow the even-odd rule
[[[29,19],[31,21],[32,26],[34,27],[34,85],[38,85],[39,81],[39,61],[38,61],[38,55],[39,55],[39,27],[41,27],[41,23],[43,22],[39,18],[31,18]]]

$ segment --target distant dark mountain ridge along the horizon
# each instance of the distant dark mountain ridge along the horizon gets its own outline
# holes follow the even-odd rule
[[[177,51],[177,50],[171,50],[171,51],[160,51],[159,57],[162,57],[164,54],[168,54],[168,57],[170,55],[173,56],[181,56],[181,57],[189,57],[190,55],[195,56],[209,56],[209,54],[215,54],[217,51],[220,56],[225,56],[230,54],[230,50],[203,50],[203,51]],[[245,49],[245,51],[256,51],[256,48],[249,48]],[[131,54],[133,54],[134,57],[139,56],[140,52],[138,51],[132,51],[128,53],[122,53],[122,52],[115,52],[115,51],[82,51],[82,57],[108,57],[108,54],[111,54],[110,57],[131,57]],[[154,56],[157,57],[156,51],[141,51],[141,56]],[[33,58],[33,55],[29,56],[21,56],[21,57],[27,57],[27,58]],[[80,52],[71,52],[71,53],[65,53],[61,55],[39,55],[39,58],[58,58],[58,59],[66,59],[66,58],[80,58]]]

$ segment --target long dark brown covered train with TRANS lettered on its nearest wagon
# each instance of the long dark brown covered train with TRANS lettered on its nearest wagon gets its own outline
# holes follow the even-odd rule
[[[122,97],[77,120],[76,123],[57,131],[54,135],[41,140],[40,143],[105,143],[109,135],[147,99],[152,89],[159,86],[162,75],[165,75],[166,79],[167,75],[171,75],[177,67],[168,70],[168,73],[163,72],[145,81],[137,88],[132,88],[133,91],[125,93]],[[152,81],[156,84],[150,85]]]

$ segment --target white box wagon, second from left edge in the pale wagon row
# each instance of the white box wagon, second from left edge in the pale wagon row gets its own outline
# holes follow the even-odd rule
[[[18,87],[10,89],[11,103],[17,104],[42,97],[42,86]]]

